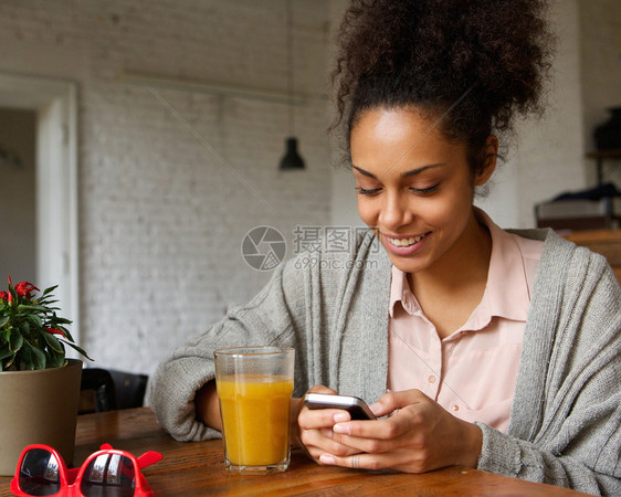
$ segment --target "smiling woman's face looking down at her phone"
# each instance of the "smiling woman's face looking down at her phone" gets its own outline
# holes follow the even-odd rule
[[[474,176],[465,145],[448,141],[433,120],[407,108],[366,110],[350,149],[358,212],[392,263],[406,273],[463,264],[481,236],[474,187],[493,166]]]

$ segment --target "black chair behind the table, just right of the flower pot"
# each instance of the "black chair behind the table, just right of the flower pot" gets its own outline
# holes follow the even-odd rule
[[[148,379],[146,374],[113,369],[83,369],[78,413],[140,408]]]

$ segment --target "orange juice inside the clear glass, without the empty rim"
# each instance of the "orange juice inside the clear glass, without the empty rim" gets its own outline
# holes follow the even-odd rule
[[[287,459],[293,380],[241,374],[219,378],[217,383],[229,462],[267,466]]]

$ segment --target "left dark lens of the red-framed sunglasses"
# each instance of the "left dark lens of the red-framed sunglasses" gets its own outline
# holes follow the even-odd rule
[[[20,488],[32,496],[54,495],[61,489],[59,462],[43,448],[25,453],[20,467]]]

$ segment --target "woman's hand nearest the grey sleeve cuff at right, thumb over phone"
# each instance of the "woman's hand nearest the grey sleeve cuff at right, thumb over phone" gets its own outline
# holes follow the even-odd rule
[[[339,451],[331,451],[322,440],[313,447],[314,457],[323,464],[406,473],[452,465],[476,467],[481,430],[453,416],[420,390],[387,393],[370,408],[378,417],[393,415],[378,421],[338,422],[333,426],[331,442]],[[349,451],[355,453],[343,454]]]

